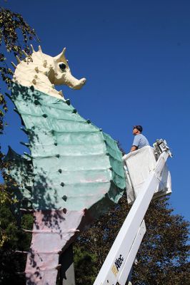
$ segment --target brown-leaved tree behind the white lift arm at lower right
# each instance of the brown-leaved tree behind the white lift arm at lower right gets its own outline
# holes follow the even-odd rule
[[[93,254],[94,257],[91,264],[88,264],[88,274],[82,274],[84,284],[93,284],[128,212],[129,206],[126,197],[123,197],[119,205],[104,214],[88,231],[81,234],[76,247],[80,246],[84,255],[88,253]],[[189,223],[183,217],[173,214],[173,209],[169,207],[166,198],[151,202],[145,222],[146,234],[137,254],[138,264],[134,266],[132,283],[135,285],[188,284],[190,280],[189,246],[187,245]],[[80,255],[81,263],[82,259]],[[80,274],[81,272],[77,270],[77,285],[82,284]],[[93,280],[91,283],[89,276]]]

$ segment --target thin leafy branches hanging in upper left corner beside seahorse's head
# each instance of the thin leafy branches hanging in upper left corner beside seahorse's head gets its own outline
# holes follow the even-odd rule
[[[11,88],[11,76],[13,72],[6,60],[7,53],[14,56],[22,56],[22,49],[30,53],[29,41],[36,37],[36,33],[29,24],[24,21],[20,14],[16,14],[9,9],[0,7],[0,72],[1,81],[4,81],[8,88]],[[7,111],[4,94],[0,94],[0,131],[4,130],[4,113]]]

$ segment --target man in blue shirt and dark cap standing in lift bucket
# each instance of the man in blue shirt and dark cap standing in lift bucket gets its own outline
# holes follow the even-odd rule
[[[142,127],[141,125],[134,125],[133,134],[134,134],[134,142],[131,146],[131,152],[134,150],[139,150],[141,147],[145,147],[149,145],[149,141],[147,138],[141,134]]]

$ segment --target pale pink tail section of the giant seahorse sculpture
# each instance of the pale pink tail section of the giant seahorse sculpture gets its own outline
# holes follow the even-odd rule
[[[26,261],[26,284],[56,284],[59,254],[73,240],[83,211],[35,211],[31,249]]]

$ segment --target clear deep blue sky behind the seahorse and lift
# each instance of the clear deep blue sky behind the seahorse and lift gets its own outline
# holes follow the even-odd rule
[[[190,2],[186,0],[8,1],[36,30],[44,53],[66,46],[71,72],[86,77],[81,90],[61,88],[84,118],[119,140],[126,152],[132,126],[143,125],[152,144],[164,138],[176,214],[190,218]],[[34,42],[36,48],[39,43]],[[26,137],[9,102],[2,149],[19,153]]]

